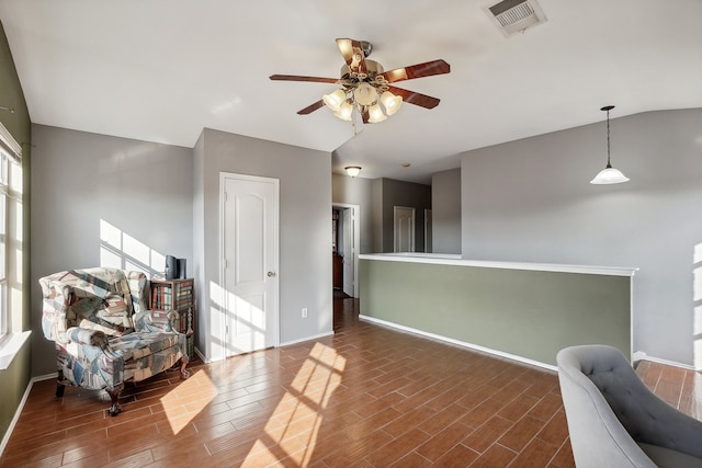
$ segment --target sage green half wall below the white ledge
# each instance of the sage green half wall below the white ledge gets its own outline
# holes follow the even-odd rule
[[[566,346],[631,356],[631,277],[360,261],[361,313],[547,365]]]

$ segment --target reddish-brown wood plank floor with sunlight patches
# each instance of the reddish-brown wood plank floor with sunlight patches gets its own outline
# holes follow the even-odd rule
[[[358,320],[333,336],[190,366],[104,392],[34,385],[2,467],[573,467],[557,376]],[[700,375],[642,362],[700,414]]]

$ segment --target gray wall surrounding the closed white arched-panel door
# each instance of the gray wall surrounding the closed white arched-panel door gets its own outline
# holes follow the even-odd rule
[[[331,155],[205,129],[195,146],[195,271],[202,285],[219,283],[219,174],[280,180],[280,340],[293,342],[332,331]],[[202,222],[200,222],[202,219]],[[207,289],[210,286],[205,286]],[[200,310],[215,308],[206,294]],[[301,309],[308,308],[308,317]],[[200,350],[219,336],[210,313],[200,313]]]

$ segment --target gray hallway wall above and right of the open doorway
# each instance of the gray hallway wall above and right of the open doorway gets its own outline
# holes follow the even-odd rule
[[[358,253],[373,252],[373,181],[342,174],[331,176],[331,201],[359,205],[361,210],[361,246]]]

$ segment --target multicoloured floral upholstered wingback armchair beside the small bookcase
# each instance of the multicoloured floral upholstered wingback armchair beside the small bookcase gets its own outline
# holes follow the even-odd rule
[[[57,352],[58,386],[104,389],[110,415],[122,409],[126,381],[140,381],[179,365],[188,378],[185,335],[165,312],[148,310],[149,282],[141,272],[109,267],[71,270],[39,279],[42,329]]]

